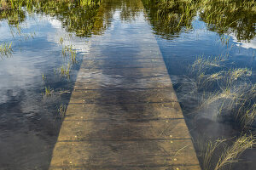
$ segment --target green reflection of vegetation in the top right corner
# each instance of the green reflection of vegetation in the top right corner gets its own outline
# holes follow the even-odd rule
[[[219,34],[233,32],[238,40],[255,37],[256,3],[254,0],[205,0],[201,3],[201,20]]]

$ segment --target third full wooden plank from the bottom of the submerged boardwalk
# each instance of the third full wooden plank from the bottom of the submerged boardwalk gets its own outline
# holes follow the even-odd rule
[[[65,121],[87,120],[144,120],[183,118],[180,105],[172,103],[122,104],[122,105],[68,105]]]

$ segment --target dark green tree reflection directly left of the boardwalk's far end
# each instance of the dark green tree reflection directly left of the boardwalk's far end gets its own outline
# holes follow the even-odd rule
[[[43,7],[43,8],[41,8]],[[75,32],[79,37],[88,37],[94,27],[99,5],[80,6],[78,2],[65,1],[40,2],[36,13],[49,14],[61,20],[62,26],[68,32]]]

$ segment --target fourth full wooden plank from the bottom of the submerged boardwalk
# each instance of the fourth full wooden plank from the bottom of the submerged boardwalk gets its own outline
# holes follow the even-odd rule
[[[137,103],[171,103],[177,102],[176,94],[172,88],[159,89],[124,89],[115,90],[76,90],[73,91],[70,103],[101,105],[108,104],[137,104]]]

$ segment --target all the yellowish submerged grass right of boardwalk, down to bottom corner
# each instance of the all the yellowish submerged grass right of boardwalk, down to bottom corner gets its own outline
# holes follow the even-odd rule
[[[233,68],[230,63],[230,57],[223,55],[201,56],[189,69],[191,80],[195,81],[194,93],[203,94],[197,112],[211,114],[213,122],[230,123],[241,135],[236,140],[210,141],[201,155],[205,170],[231,166],[239,161],[242,152],[255,144],[252,131],[256,120],[256,85],[251,82],[252,69]]]

